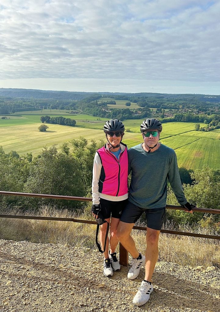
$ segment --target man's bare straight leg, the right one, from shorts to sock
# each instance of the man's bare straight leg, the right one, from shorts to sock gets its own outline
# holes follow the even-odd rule
[[[147,227],[146,240],[146,265],[145,265],[145,280],[151,282],[155,264],[158,261],[158,239],[160,231]]]

